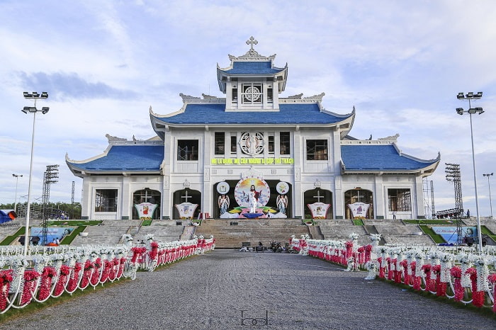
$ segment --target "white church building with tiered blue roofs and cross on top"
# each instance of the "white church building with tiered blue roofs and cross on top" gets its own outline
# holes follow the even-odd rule
[[[150,140],[106,135],[103,154],[66,156],[83,178],[83,219],[425,217],[422,181],[439,154],[402,154],[398,135],[351,137],[355,109],[327,110],[325,93],[280,97],[288,65],[247,45],[217,67],[225,97],[180,93],[174,113],[150,107]]]

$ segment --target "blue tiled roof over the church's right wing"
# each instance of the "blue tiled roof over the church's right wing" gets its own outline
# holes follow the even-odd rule
[[[357,171],[417,170],[436,162],[402,156],[392,144],[343,145],[341,158],[346,170]]]

